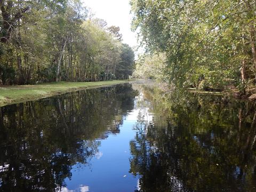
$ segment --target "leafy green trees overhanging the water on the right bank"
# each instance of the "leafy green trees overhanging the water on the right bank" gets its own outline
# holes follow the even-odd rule
[[[131,6],[133,29],[147,50],[133,76],[241,94],[255,87],[255,1],[132,0]]]

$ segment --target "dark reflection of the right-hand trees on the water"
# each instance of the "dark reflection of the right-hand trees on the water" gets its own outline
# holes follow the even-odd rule
[[[130,142],[139,191],[256,191],[256,105],[143,87]],[[150,119],[150,118],[149,118]]]

